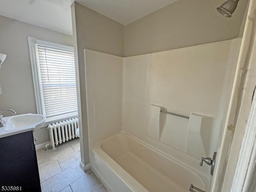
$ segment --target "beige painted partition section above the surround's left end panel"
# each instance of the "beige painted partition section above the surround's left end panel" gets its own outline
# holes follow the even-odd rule
[[[116,56],[124,55],[124,26],[75,2],[78,46]]]

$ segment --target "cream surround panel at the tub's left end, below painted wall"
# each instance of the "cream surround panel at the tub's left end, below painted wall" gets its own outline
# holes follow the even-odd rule
[[[90,145],[121,131],[123,58],[85,50]]]

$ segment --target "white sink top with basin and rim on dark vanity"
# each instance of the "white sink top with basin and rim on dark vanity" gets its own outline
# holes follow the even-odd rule
[[[39,129],[45,119],[43,115],[31,113],[4,117],[3,120],[6,124],[4,127],[0,127],[0,138]]]

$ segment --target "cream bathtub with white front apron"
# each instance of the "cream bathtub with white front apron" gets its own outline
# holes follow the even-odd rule
[[[127,134],[116,134],[91,148],[91,168],[110,192],[188,192],[206,190],[188,166]]]

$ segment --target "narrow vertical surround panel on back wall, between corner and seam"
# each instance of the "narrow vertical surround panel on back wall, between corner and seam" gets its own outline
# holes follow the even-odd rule
[[[122,125],[146,134],[152,55],[124,59]]]

